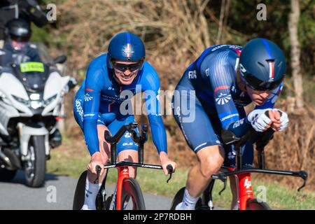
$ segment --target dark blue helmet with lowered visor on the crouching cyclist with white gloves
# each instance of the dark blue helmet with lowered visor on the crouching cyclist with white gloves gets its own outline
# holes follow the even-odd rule
[[[241,50],[239,72],[246,85],[254,90],[274,90],[286,73],[282,50],[265,38],[248,41]]]

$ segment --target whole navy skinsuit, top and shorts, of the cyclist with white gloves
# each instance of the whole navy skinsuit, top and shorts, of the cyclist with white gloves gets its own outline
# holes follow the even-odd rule
[[[237,69],[241,47],[237,45],[214,45],[205,50],[200,57],[190,64],[176,86],[181,97],[172,99],[174,119],[181,128],[190,148],[198,153],[207,146],[223,146],[225,149],[224,165],[235,167],[233,146],[221,141],[221,130],[231,130],[240,137],[248,130],[244,106],[251,98],[237,85]],[[255,109],[273,108],[283,84],[273,90],[262,106]],[[190,91],[194,90],[194,91]],[[192,100],[195,104],[190,105]],[[190,118],[188,111],[195,111]],[[184,119],[185,118],[185,119]],[[189,122],[186,122],[189,120]],[[253,163],[253,144],[247,142],[241,147],[242,165],[251,167]]]

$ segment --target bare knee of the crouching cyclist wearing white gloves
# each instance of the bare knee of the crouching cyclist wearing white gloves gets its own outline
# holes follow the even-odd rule
[[[200,159],[200,172],[207,179],[210,179],[212,174],[216,174],[224,162],[224,154],[219,146],[204,148],[204,152],[198,158]]]

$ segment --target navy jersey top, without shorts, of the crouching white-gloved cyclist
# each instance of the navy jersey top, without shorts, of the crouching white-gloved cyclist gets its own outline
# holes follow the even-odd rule
[[[188,66],[178,84],[178,89],[195,90],[204,111],[211,120],[220,120],[226,130],[241,136],[247,130],[247,120],[239,116],[239,108],[252,102],[246,92],[237,86],[237,69],[242,47],[214,45]],[[265,104],[255,109],[273,108],[283,83],[272,90]],[[196,115],[197,116],[197,115]]]

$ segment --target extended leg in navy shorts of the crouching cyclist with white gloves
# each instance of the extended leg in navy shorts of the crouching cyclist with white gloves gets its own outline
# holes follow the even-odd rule
[[[176,90],[181,92],[181,87],[176,87]],[[185,111],[185,108],[182,107],[190,105],[189,102],[192,97],[195,98],[195,104],[192,105],[193,108],[186,108],[186,111],[195,113],[195,119],[186,119],[187,122],[185,122],[187,116],[181,113]],[[211,175],[218,172],[223,164],[224,152],[221,147],[221,141],[219,141],[218,136],[212,128],[209,116],[204,111],[199,99],[195,97],[195,93],[188,93],[187,103],[182,104],[182,101],[183,99],[179,99],[179,97],[177,99],[176,96],[173,97],[172,109],[174,118],[181,128],[188,145],[197,153],[198,162],[188,173],[186,190],[183,197],[184,203],[182,202],[176,208],[195,209],[195,203],[202,194],[202,191],[207,188]]]

